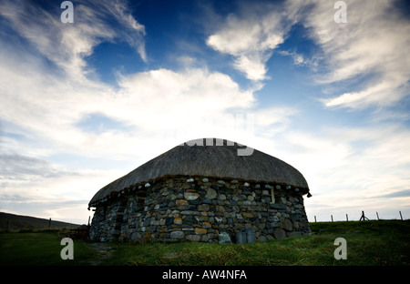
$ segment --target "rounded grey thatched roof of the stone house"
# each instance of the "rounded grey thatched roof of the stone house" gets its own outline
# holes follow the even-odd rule
[[[200,141],[203,146],[199,146],[200,143],[193,145],[193,141]],[[203,138],[173,147],[101,188],[91,199],[89,206],[94,206],[98,200],[124,188],[170,176],[237,179],[292,186],[300,188],[302,193],[309,191],[302,174],[282,160],[231,141],[223,140],[223,146],[215,146],[221,139],[214,140],[212,146],[210,141],[209,138]],[[241,149],[251,149],[251,152],[248,152],[251,155],[239,156],[238,151]]]

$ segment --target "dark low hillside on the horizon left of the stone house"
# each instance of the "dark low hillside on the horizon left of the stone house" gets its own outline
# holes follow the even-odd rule
[[[7,230],[7,223],[10,231],[49,227],[49,219],[46,218],[35,218],[30,216],[0,212],[0,231]],[[61,222],[53,219],[51,220],[51,228],[77,228],[79,226],[80,225],[78,224]]]

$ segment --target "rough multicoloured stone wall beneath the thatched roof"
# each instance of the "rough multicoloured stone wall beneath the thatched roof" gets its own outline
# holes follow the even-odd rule
[[[274,203],[272,203],[272,189]],[[121,191],[96,208],[90,238],[218,242],[251,229],[257,241],[310,234],[299,188],[167,177]]]

